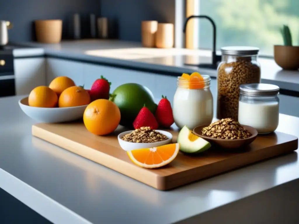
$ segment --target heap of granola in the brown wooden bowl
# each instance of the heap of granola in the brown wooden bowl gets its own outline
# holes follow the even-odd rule
[[[251,136],[239,122],[231,118],[221,119],[202,128],[202,134],[216,139],[246,139]]]

